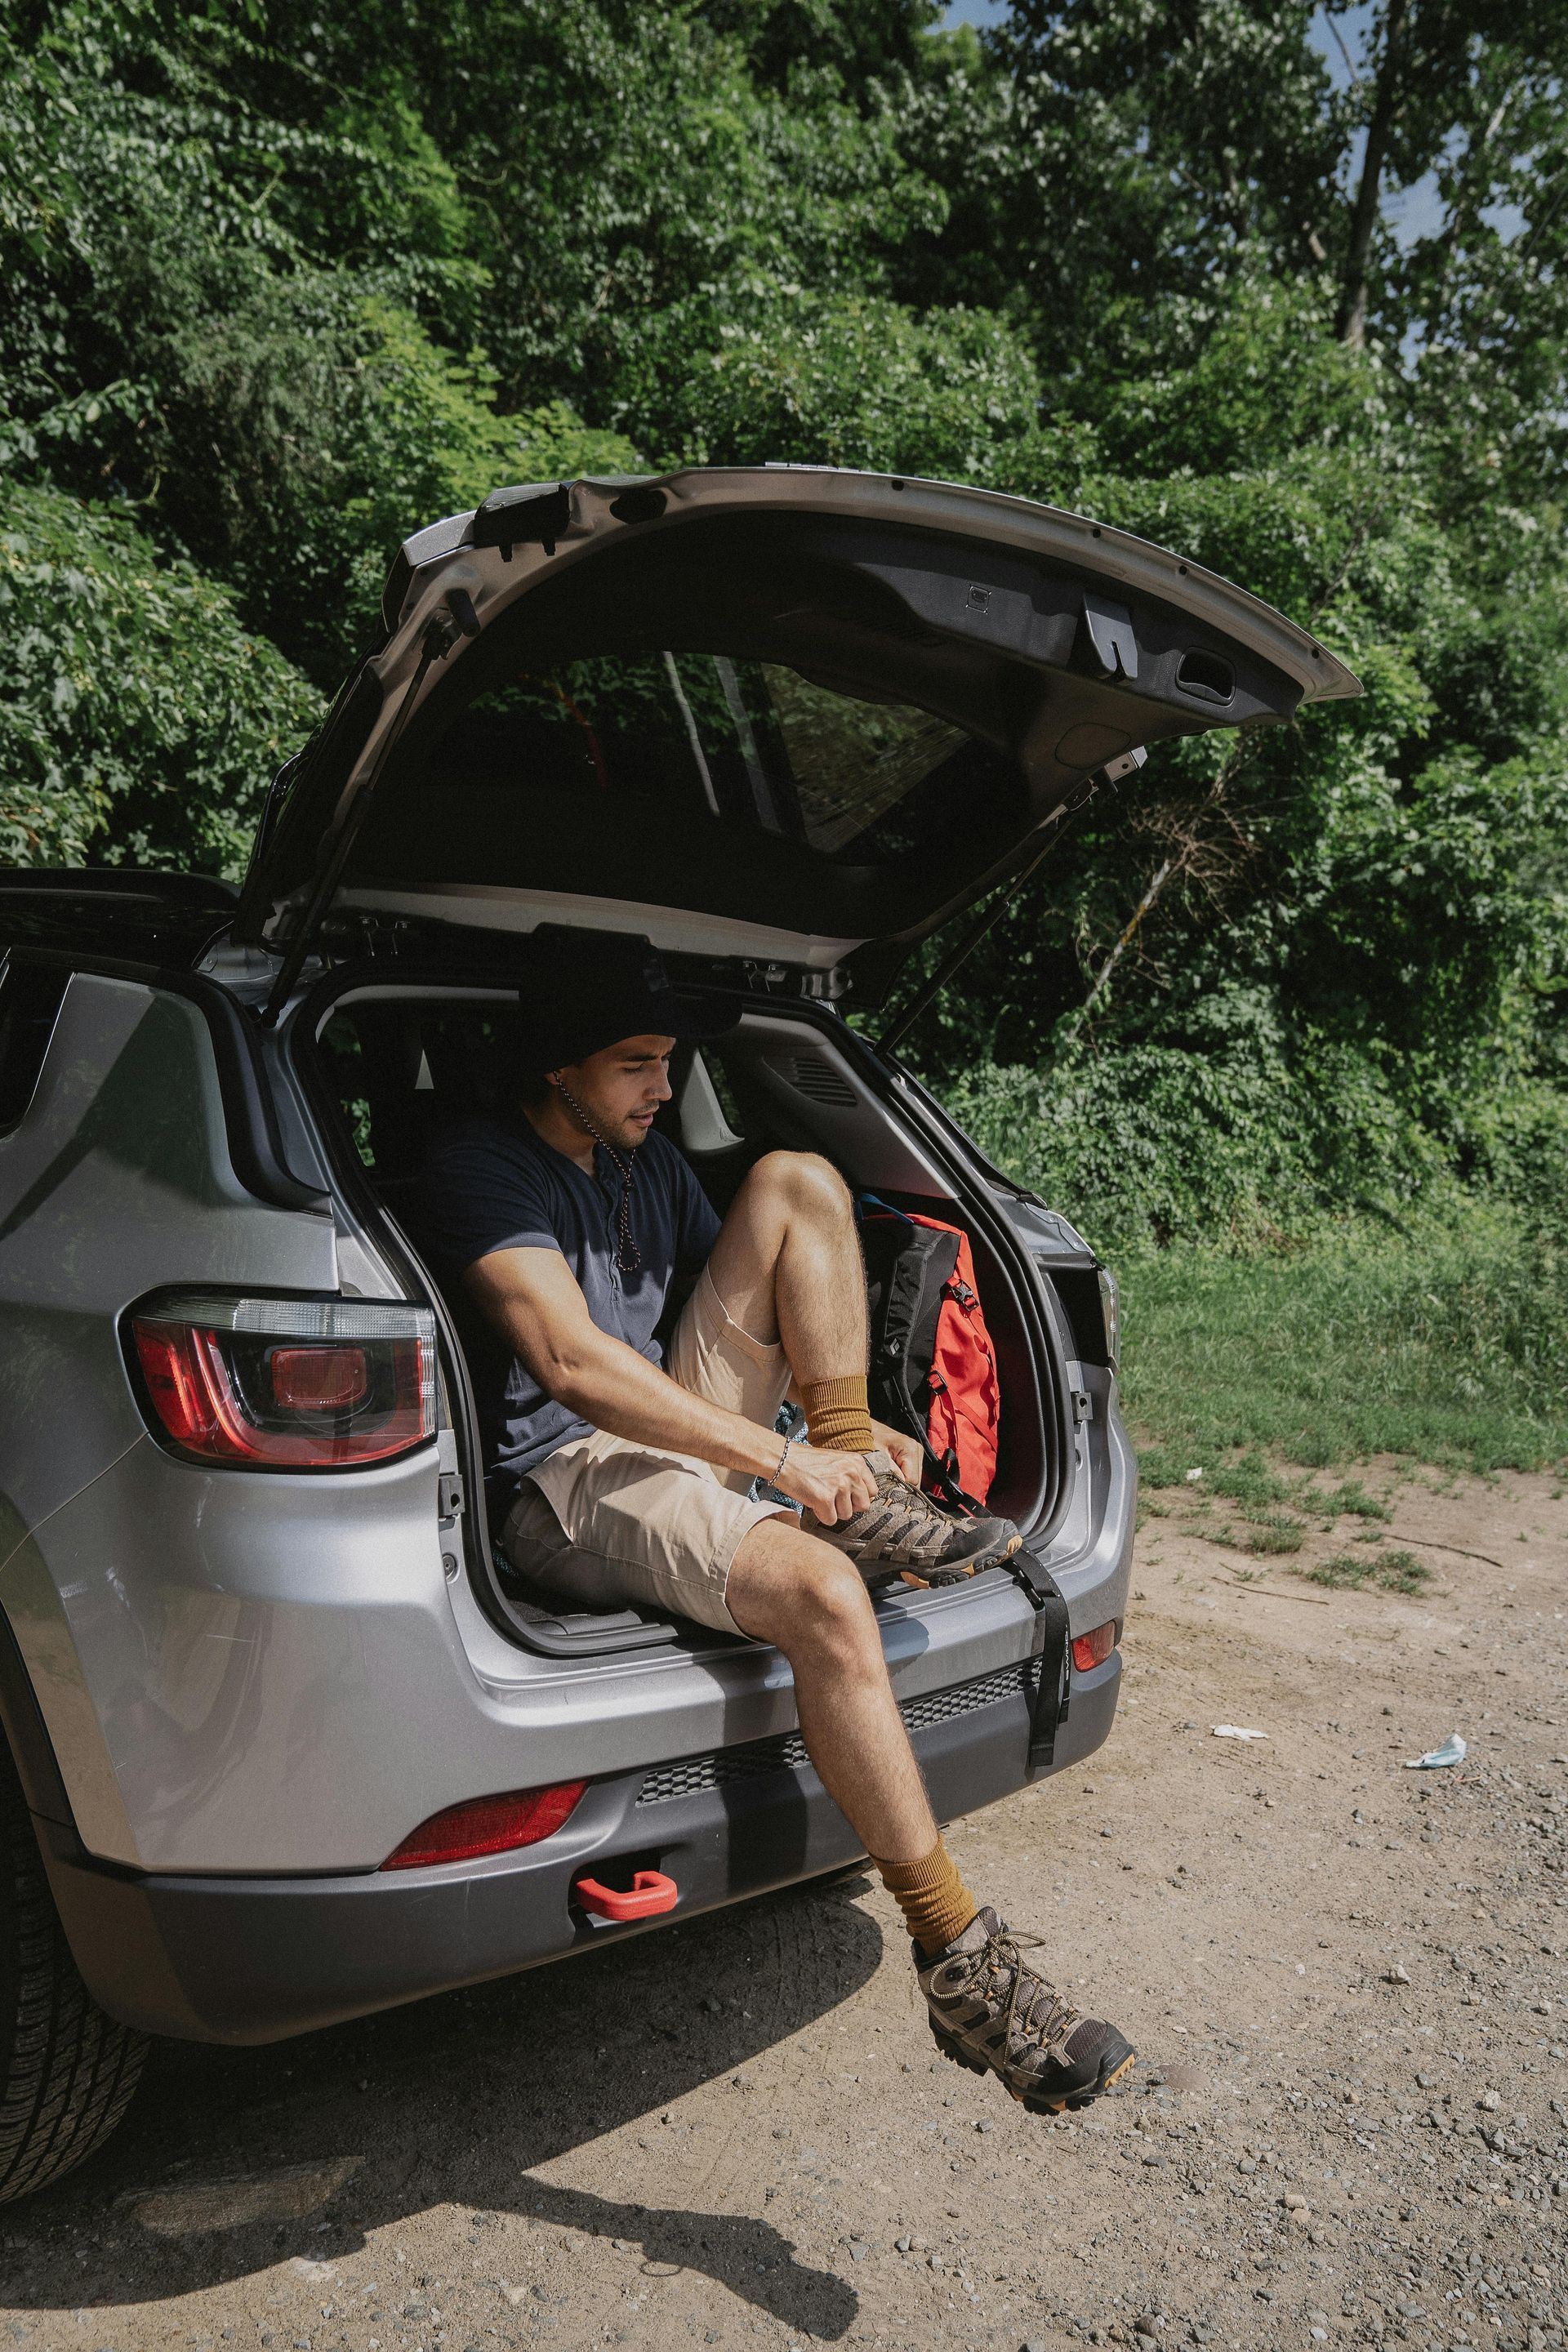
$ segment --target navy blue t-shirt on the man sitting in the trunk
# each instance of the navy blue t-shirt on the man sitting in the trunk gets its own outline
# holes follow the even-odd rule
[[[708,1261],[719,1218],[675,1145],[649,1134],[630,1152],[632,1240],[642,1265],[616,1265],[621,1178],[595,1145],[595,1174],[567,1160],[520,1115],[515,1122],[470,1120],[440,1136],[421,1171],[418,1232],[444,1282],[494,1249],[559,1249],[599,1331],[623,1338],[649,1364],[663,1362],[654,1338],[670,1284],[693,1279]],[[491,1522],[505,1515],[527,1472],[588,1435],[588,1423],[557,1404],[503,1345],[470,1350],[484,1486]]]

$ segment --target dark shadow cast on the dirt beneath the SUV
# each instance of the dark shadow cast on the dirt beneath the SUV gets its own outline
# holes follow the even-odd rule
[[[646,2176],[628,2166],[623,2201],[536,2171],[656,2119],[858,1992],[882,1959],[858,1884],[792,1889],[270,2049],[160,2044],[120,2138],[14,2211],[31,2260],[7,2293],[21,2310],[153,2303],[284,2256],[336,2260],[454,2204],[480,2216],[480,2237],[494,2213],[630,2239],[646,2263],[708,2272],[839,2338],[858,2298],[766,2220],[637,2197],[668,2190],[663,2150],[632,2154]],[[733,2098],[743,2131],[766,2129],[745,2077]]]

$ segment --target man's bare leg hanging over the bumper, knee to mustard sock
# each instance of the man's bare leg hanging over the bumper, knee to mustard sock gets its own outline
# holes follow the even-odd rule
[[[741,1538],[724,1597],[743,1632],[790,1661],[806,1752],[865,1851],[929,1856],[936,1818],[858,1571],[792,1519],[762,1519]]]

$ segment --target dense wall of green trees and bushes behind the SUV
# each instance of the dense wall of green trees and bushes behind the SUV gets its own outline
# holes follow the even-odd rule
[[[929,1073],[1107,1230],[1544,1218],[1566,73],[1556,0],[0,0],[7,854],[233,870],[395,543],[498,482],[1046,496],[1368,694],[1095,804]]]

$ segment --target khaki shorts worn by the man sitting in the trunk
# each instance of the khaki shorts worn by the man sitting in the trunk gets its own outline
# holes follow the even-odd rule
[[[752,1338],[724,1310],[708,1268],[670,1341],[670,1378],[769,1428],[790,1385],[783,1348]],[[748,1529],[778,1519],[752,1503],[743,1470],[661,1454],[590,1430],[538,1463],[501,1529],[512,1566],[578,1609],[642,1602],[741,1632],[724,1604],[729,1564]]]

